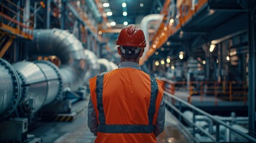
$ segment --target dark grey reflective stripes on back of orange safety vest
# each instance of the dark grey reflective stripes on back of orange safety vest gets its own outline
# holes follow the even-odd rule
[[[103,133],[151,133],[153,132],[153,116],[155,114],[155,104],[156,97],[158,96],[158,83],[155,77],[150,76],[151,83],[151,95],[149,111],[147,115],[149,117],[149,125],[106,125],[105,114],[103,110],[103,79],[104,74],[97,76],[96,80],[96,98],[97,98],[97,108],[98,108],[98,120],[100,125],[98,125],[98,132]]]

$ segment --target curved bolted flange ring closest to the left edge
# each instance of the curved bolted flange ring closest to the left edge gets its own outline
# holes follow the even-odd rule
[[[12,96],[11,104],[7,107],[7,110],[4,112],[2,117],[0,117],[0,119],[7,119],[11,115],[11,113],[13,113],[13,111],[16,109],[18,102],[20,101],[21,84],[20,84],[20,79],[18,78],[18,74],[16,70],[13,68],[13,66],[11,66],[10,63],[0,58],[0,65],[4,66],[5,69],[8,70],[13,80],[13,96]]]

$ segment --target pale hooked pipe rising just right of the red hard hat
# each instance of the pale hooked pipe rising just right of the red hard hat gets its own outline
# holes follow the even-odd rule
[[[147,43],[147,46],[144,48],[144,53],[141,57],[141,59],[143,59],[147,53],[147,51],[149,50],[149,46],[150,46],[150,41],[149,41],[149,32],[148,32],[148,26],[149,26],[149,23],[151,21],[159,21],[159,23],[162,22],[164,18],[164,15],[163,14],[149,14],[149,15],[146,15],[142,20],[141,20],[141,23],[140,23],[140,27],[141,29],[143,30],[144,32],[144,35],[145,35],[145,39],[146,39],[146,43]],[[158,24],[159,25],[159,24]]]

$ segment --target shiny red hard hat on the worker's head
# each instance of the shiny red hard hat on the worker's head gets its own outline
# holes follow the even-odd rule
[[[146,47],[146,40],[143,30],[134,24],[130,24],[129,26],[124,27],[118,35],[116,45],[138,46],[141,48]]]

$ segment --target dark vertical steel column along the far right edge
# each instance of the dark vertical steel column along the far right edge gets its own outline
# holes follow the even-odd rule
[[[248,92],[248,116],[249,135],[255,137],[255,48],[256,48],[256,24],[255,24],[255,0],[248,1],[248,41],[249,41],[249,92]]]

